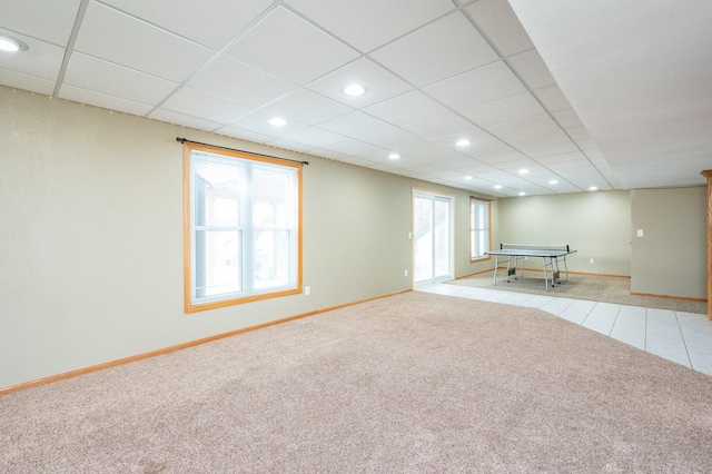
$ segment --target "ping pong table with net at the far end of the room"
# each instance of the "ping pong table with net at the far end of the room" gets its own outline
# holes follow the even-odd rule
[[[497,268],[500,267],[500,257],[503,257],[502,264],[507,264],[507,283],[510,277],[517,279],[517,266],[520,267],[520,276],[524,277],[524,260],[527,257],[542,258],[544,269],[544,288],[548,292],[548,280],[551,274],[551,286],[554,287],[555,282],[561,284],[561,273],[558,261],[563,261],[566,282],[568,280],[568,267],[566,266],[566,256],[575,253],[567,245],[521,245],[521,244],[500,244],[498,250],[486,251],[485,255],[494,255],[494,286],[497,286]],[[512,265],[514,264],[514,265]]]

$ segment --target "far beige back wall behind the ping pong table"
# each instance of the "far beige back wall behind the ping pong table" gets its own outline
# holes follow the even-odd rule
[[[528,196],[498,199],[498,204],[501,240],[495,245],[568,245],[576,249],[567,257],[571,271],[631,275],[630,192]],[[530,261],[527,267],[540,265]]]

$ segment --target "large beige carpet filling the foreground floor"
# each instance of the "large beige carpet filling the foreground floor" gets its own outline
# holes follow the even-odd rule
[[[412,292],[0,397],[3,473],[712,472],[712,377]]]

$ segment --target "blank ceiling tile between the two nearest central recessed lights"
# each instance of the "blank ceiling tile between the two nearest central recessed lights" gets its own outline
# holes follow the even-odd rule
[[[310,90],[299,89],[267,105],[265,110],[304,124],[318,125],[354,109]]]

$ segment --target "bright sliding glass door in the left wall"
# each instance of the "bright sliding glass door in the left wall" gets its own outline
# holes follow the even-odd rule
[[[413,283],[453,278],[453,197],[413,191]]]

